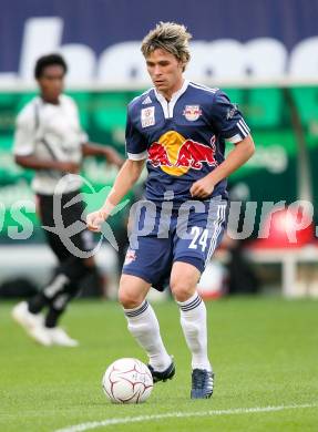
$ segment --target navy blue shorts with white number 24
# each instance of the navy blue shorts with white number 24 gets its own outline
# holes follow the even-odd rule
[[[188,263],[202,274],[220,243],[227,223],[226,199],[216,197],[204,204],[211,210],[196,213],[192,209],[186,222],[179,217],[178,210],[173,210],[172,216],[163,222],[161,208],[143,208],[139,220],[136,217],[133,223],[123,275],[137,276],[162,291],[168,285],[175,261]],[[148,225],[153,226],[151,233],[135,234],[141,233],[145,224],[152,224]],[[186,229],[189,238],[178,235],[177,224],[178,229]],[[163,227],[167,238],[160,238]]]

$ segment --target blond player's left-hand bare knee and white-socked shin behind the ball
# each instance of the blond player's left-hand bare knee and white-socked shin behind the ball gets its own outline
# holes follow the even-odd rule
[[[150,364],[156,371],[164,371],[171,363],[160,333],[155,312],[145,297],[151,284],[132,276],[122,275],[119,299],[124,308],[127,328],[150,358]]]

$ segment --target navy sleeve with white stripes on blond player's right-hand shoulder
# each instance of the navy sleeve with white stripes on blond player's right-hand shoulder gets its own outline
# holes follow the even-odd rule
[[[250,133],[237,105],[233,104],[222,91],[215,94],[212,116],[217,133],[230,143],[238,143]]]

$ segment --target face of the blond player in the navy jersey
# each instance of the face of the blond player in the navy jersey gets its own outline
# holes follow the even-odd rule
[[[156,49],[146,58],[147,71],[156,90],[167,100],[182,88],[184,64],[170,52]]]

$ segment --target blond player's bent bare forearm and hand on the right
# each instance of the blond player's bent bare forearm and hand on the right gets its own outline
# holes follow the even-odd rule
[[[236,143],[226,160],[212,173],[192,185],[189,189],[191,195],[197,198],[208,197],[213,193],[215,185],[244,165],[253,156],[254,152],[254,141],[248,135],[243,141]]]

